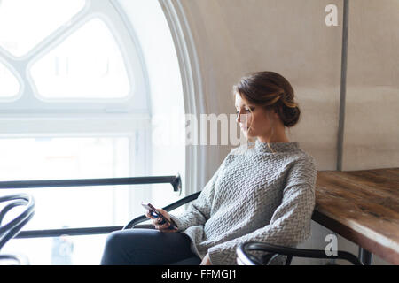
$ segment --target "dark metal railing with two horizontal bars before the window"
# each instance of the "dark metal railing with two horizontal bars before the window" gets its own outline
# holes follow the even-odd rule
[[[151,176],[106,179],[75,179],[75,180],[16,180],[0,181],[0,189],[13,188],[42,188],[42,187],[84,187],[84,186],[109,186],[109,185],[144,185],[169,183],[175,192],[182,193],[182,180],[180,174],[175,176]],[[11,209],[11,208],[8,208]],[[67,235],[90,235],[111,233],[121,230],[123,226],[99,226],[82,228],[43,229],[20,231],[15,238],[43,238]]]

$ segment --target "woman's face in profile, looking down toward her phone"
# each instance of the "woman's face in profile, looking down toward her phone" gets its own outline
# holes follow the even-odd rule
[[[269,112],[263,107],[249,103],[245,98],[236,94],[237,123],[246,137],[270,137],[271,126]],[[271,115],[270,115],[271,116]]]

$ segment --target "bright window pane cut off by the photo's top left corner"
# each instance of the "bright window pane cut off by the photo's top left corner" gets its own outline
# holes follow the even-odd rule
[[[14,56],[25,55],[84,4],[84,0],[0,1],[0,46]]]

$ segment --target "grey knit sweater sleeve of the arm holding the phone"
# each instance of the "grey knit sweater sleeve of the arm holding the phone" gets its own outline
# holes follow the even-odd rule
[[[210,217],[210,211],[215,194],[215,183],[224,162],[215,172],[214,176],[207,182],[196,200],[189,204],[187,210],[181,216],[169,213],[170,218],[175,222],[178,231],[184,231],[190,226],[204,225]]]

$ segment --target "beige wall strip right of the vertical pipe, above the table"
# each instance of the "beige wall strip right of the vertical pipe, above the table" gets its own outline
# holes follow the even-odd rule
[[[399,1],[349,2],[342,168],[399,167]]]

